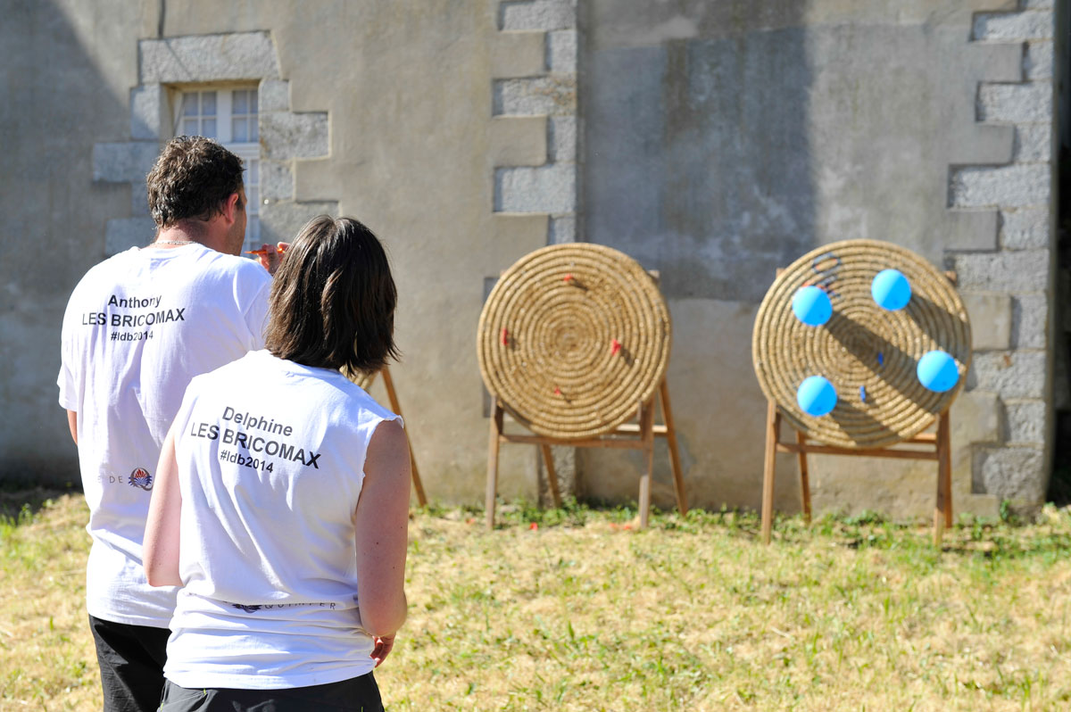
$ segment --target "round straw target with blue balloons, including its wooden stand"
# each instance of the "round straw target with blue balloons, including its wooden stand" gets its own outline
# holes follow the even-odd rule
[[[903,303],[895,306],[881,303],[874,291],[878,275],[892,271],[909,284]],[[778,270],[759,306],[752,340],[755,374],[767,398],[764,543],[772,535],[780,452],[797,457],[808,524],[808,455],[935,461],[933,541],[940,546],[944,529],[952,526],[949,409],[971,358],[970,322],[955,281],[954,273],[938,272],[915,253],[874,240],[832,243]],[[810,313],[801,316],[793,306],[795,296],[814,286],[828,297],[818,319]],[[947,384],[922,376],[920,362],[934,352],[949,364]],[[832,402],[808,408],[806,381],[816,376],[826,380]],[[781,426],[786,421],[795,438],[784,440]]]

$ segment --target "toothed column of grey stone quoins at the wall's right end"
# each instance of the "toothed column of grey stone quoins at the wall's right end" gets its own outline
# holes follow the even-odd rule
[[[946,251],[975,333],[965,395],[991,394],[1000,421],[995,440],[969,445],[971,489],[1028,511],[1045,496],[1052,419],[1054,36],[1053,0],[974,16],[971,43],[1021,57],[1014,80],[983,77],[976,95],[976,127],[1008,127],[1013,141],[1007,161],[968,156],[949,169],[951,212],[996,215],[989,234]]]

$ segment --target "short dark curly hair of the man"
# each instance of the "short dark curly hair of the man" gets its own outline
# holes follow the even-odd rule
[[[160,228],[208,221],[242,187],[242,160],[210,138],[179,136],[167,142],[146,178],[149,212]]]

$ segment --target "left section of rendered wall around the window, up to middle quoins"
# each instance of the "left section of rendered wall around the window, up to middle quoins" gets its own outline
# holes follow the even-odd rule
[[[0,388],[10,422],[0,478],[20,467],[13,443],[55,476],[74,476],[55,405],[62,308],[88,267],[139,242],[147,217],[138,177],[166,138],[168,88],[259,76],[265,230],[287,237],[327,211],[355,215],[382,238],[399,292],[404,361],[393,377],[425,489],[433,499],[480,500],[487,425],[474,330],[484,281],[547,240],[545,215],[496,213],[496,167],[518,165],[510,126],[502,136],[494,123],[495,77],[511,76],[518,59],[500,41],[498,3],[146,0],[134,3],[144,21],[132,3],[91,4],[4,2],[18,7],[4,7],[4,55],[18,57],[26,76],[4,74],[20,106],[0,109],[5,151],[20,168],[2,173],[4,244],[18,248],[3,261],[0,343],[10,367]],[[86,28],[79,34],[71,24]],[[542,71],[540,35],[528,58]],[[26,113],[31,104],[37,117]],[[543,148],[541,160],[529,150],[522,165],[545,162],[543,131],[521,128]],[[43,147],[47,163],[37,164]],[[27,180],[37,183],[18,187]],[[30,376],[13,377],[11,367]],[[373,395],[383,397],[380,389]],[[6,407],[21,400],[29,411]],[[530,452],[503,451],[499,490],[534,497]]]

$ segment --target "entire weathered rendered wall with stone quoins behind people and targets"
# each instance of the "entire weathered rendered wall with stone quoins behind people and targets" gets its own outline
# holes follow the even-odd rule
[[[0,412],[0,478],[72,480],[74,449],[55,444],[69,437],[54,385],[63,305],[89,266],[151,237],[141,182],[169,135],[170,92],[257,81],[265,238],[332,212],[387,243],[405,354],[394,381],[433,499],[482,499],[472,336],[487,285],[532,249],[585,240],[660,272],[692,504],[757,506],[758,302],[778,267],[847,238],[890,240],[960,275],[977,354],[952,411],[957,511],[1043,496],[1052,0],[4,10],[0,395],[16,407]],[[635,499],[638,456],[556,457],[580,494]],[[500,494],[537,497],[536,463],[504,448]],[[654,500],[672,506],[662,443],[655,463]],[[779,459],[779,509],[797,506],[794,480]],[[933,504],[927,464],[818,457],[812,483],[819,510]]]

